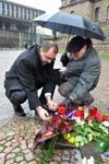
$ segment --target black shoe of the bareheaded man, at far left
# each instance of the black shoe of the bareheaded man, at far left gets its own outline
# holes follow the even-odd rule
[[[25,117],[26,114],[24,109],[21,107],[21,105],[13,105],[14,112],[19,117]]]

